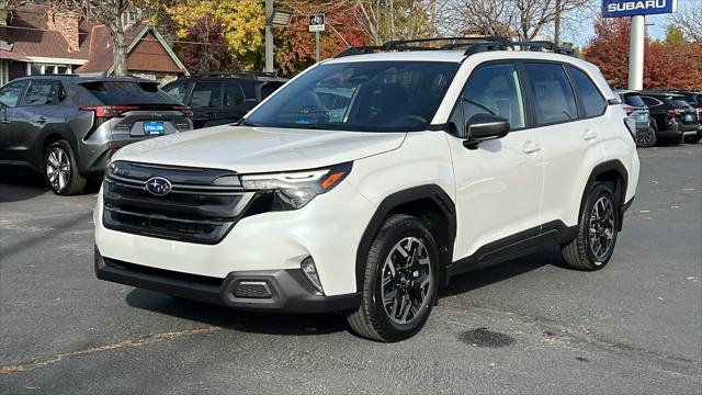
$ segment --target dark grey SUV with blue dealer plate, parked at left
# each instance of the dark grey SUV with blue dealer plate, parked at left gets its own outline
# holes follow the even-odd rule
[[[127,144],[192,128],[190,109],[133,77],[32,76],[0,88],[0,165],[41,171],[80,193]]]

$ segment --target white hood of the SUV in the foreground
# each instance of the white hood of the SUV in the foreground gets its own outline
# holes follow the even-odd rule
[[[239,173],[314,169],[397,149],[406,133],[216,126],[149,138],[113,160],[227,169]]]

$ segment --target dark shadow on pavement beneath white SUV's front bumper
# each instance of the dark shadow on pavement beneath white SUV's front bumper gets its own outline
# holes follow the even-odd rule
[[[348,330],[341,314],[263,314],[189,301],[135,289],[126,296],[129,306],[253,334],[304,336]]]

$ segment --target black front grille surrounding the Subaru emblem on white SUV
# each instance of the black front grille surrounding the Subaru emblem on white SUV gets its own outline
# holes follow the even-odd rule
[[[161,167],[116,161],[105,173],[103,225],[113,230],[199,244],[217,244],[254,196],[240,187],[218,187],[228,170]],[[170,193],[148,192],[146,181],[168,179]]]

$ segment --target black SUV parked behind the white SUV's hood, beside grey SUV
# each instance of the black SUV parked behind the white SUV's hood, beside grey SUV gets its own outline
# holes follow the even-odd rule
[[[163,91],[193,109],[195,128],[238,122],[287,80],[270,72],[237,71],[181,77]]]

